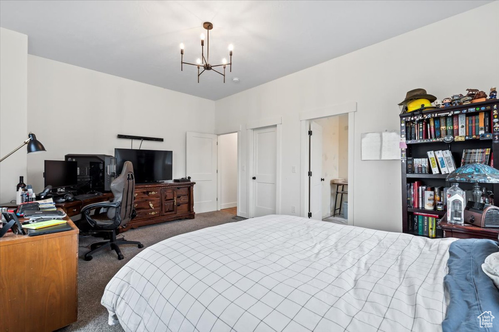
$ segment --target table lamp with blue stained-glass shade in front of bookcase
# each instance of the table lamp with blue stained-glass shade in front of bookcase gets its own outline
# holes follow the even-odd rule
[[[449,174],[447,181],[474,183],[473,200],[480,202],[482,192],[479,183],[499,183],[499,171],[485,164],[468,164]]]

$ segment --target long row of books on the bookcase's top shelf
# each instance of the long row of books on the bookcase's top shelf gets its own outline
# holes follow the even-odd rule
[[[489,112],[455,114],[429,119],[408,121],[407,139],[442,138],[445,136],[469,136],[491,132]]]

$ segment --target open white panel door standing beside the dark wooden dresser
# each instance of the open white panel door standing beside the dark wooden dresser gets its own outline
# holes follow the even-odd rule
[[[186,175],[194,186],[194,211],[217,210],[217,135],[187,132]]]

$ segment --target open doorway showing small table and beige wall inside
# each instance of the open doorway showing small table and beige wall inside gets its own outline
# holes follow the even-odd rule
[[[311,119],[309,217],[348,223],[348,114]]]

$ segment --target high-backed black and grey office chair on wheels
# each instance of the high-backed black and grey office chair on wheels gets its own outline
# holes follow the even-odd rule
[[[81,209],[82,215],[90,224],[92,230],[110,232],[110,240],[90,245],[90,251],[84,256],[85,260],[91,260],[92,255],[104,248],[110,247],[118,254],[118,259],[123,259],[119,244],[135,244],[139,248],[144,245],[138,241],[127,241],[125,239],[116,239],[116,229],[125,227],[128,221],[135,218],[136,213],[134,207],[134,191],[135,177],[133,174],[133,165],[130,161],[125,161],[123,171],[111,183],[111,191],[114,195],[112,202],[100,202],[89,204]],[[100,213],[100,209],[107,208],[107,212]],[[90,216],[90,212],[99,209],[94,215]]]

